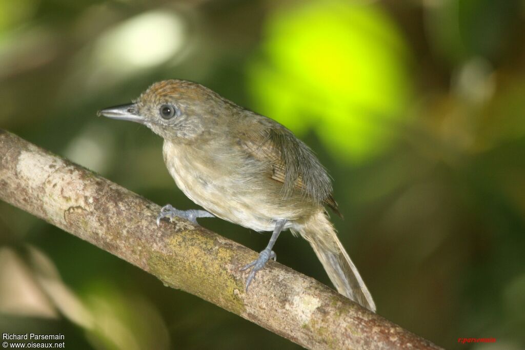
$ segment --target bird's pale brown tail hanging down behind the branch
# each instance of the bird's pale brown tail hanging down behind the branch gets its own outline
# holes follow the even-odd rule
[[[327,215],[312,215],[301,224],[293,228],[292,232],[299,233],[310,242],[338,292],[375,312],[372,295],[344,250]]]

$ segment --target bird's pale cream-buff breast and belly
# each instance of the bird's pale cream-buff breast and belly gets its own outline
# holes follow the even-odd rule
[[[246,176],[245,169],[229,164],[230,158],[203,156],[170,142],[164,142],[163,154],[178,188],[219,218],[256,231],[271,231],[275,220],[294,215],[290,208],[279,206],[256,179]]]

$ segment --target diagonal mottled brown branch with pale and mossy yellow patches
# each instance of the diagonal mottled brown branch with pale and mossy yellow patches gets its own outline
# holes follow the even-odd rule
[[[256,252],[1,129],[0,198],[303,347],[439,348],[274,261],[245,293]]]

